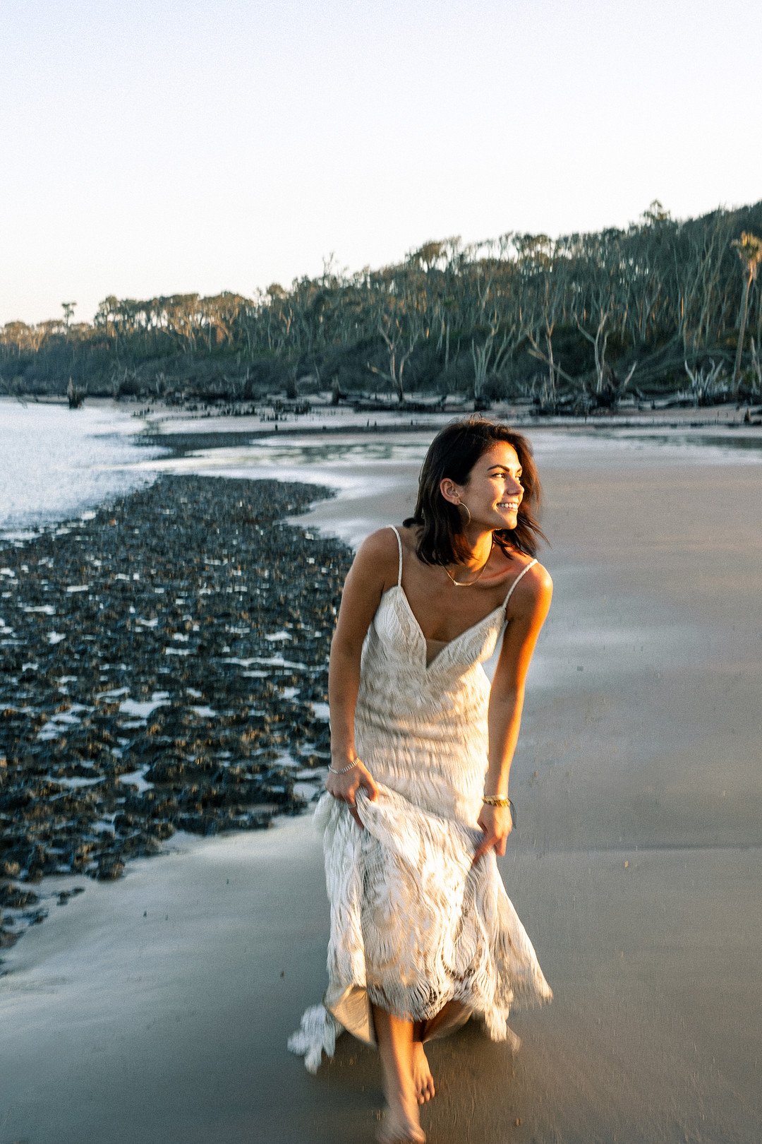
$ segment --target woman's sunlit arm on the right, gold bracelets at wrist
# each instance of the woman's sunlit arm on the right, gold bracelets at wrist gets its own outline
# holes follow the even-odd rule
[[[535,644],[545,622],[553,596],[553,581],[542,564],[536,564],[516,586],[503,648],[495,669],[489,699],[489,768],[484,794],[507,799],[508,773],[519,739],[524,683]],[[482,805],[479,825],[484,837],[474,861],[488,850],[505,853],[511,833],[511,808]]]

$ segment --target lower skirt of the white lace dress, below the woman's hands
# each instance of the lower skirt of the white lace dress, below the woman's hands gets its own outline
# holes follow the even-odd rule
[[[329,986],[289,1049],[315,1072],[344,1027],[375,1043],[371,1002],[425,1028],[450,1001],[458,1012],[433,1036],[473,1015],[491,1040],[518,1049],[511,1008],[553,994],[494,852],[472,865],[481,832],[383,786],[372,802],[359,792],[358,812],[364,829],[330,795],[315,811],[331,903]]]

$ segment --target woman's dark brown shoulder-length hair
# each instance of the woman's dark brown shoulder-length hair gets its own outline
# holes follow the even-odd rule
[[[416,509],[403,524],[419,529],[416,553],[425,564],[455,564],[467,555],[463,518],[456,506],[442,496],[440,483],[449,477],[458,485],[467,484],[479,458],[498,442],[506,442],[516,451],[524,495],[515,529],[497,529],[495,542],[506,554],[519,548],[535,556],[539,538],[547,539],[536,519],[540,484],[529,442],[499,421],[474,414],[440,429],[420,469]]]

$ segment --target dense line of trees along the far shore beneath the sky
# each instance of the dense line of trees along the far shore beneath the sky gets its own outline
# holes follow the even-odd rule
[[[109,296],[93,323],[0,329],[10,392],[256,399],[460,394],[486,406],[612,405],[676,390],[696,404],[762,390],[762,201],[626,229],[425,243],[401,262],[252,297]]]

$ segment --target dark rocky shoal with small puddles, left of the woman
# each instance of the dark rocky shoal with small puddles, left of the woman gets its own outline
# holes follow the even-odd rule
[[[351,551],[283,518],[326,495],[163,477],[0,547],[0,948],[46,915],[45,875],[305,807]]]

